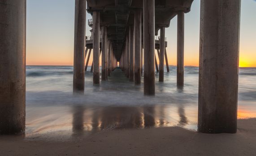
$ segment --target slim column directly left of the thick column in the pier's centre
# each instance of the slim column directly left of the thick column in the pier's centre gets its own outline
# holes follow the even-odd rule
[[[142,10],[135,9],[134,18],[134,83],[138,85],[141,83],[141,26],[142,26]]]

